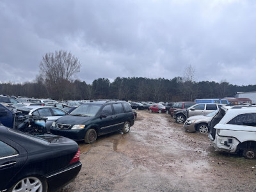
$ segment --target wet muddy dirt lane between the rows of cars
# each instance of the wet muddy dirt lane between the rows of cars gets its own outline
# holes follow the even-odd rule
[[[207,135],[184,132],[170,115],[137,112],[128,134],[79,143],[81,172],[61,192],[256,191],[256,160],[215,152]]]

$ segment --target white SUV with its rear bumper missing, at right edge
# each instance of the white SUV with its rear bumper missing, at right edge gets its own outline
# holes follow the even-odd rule
[[[212,118],[209,138],[216,150],[256,156],[256,107],[224,106]]]

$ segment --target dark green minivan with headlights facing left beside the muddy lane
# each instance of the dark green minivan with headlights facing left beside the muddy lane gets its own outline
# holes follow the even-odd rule
[[[93,143],[109,132],[128,133],[134,124],[134,112],[128,102],[101,100],[81,104],[69,115],[52,123],[52,134]]]

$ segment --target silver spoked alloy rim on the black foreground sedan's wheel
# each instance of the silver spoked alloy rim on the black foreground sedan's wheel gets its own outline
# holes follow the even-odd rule
[[[26,177],[20,180],[12,190],[12,192],[18,191],[42,192],[43,184],[41,180],[36,177]]]

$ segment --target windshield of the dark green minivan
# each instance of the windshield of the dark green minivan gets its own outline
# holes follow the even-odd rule
[[[82,104],[81,106],[74,109],[70,115],[95,116],[101,106],[102,105],[100,104]]]

